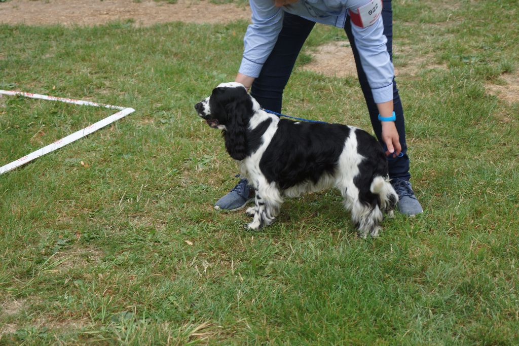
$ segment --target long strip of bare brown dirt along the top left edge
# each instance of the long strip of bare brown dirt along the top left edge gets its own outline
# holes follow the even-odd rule
[[[207,1],[178,0],[176,4],[153,0],[12,0],[0,3],[0,23],[28,25],[98,25],[135,20],[137,25],[182,21],[227,23],[250,20],[247,6],[215,5]]]

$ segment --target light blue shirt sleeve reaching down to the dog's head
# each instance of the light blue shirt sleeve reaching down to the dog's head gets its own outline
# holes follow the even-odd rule
[[[249,0],[252,24],[243,38],[244,50],[238,72],[257,77],[274,48],[283,26],[284,11],[273,0]]]

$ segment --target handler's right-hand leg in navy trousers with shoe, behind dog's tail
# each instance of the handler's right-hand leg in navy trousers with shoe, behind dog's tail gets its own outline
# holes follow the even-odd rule
[[[393,13],[391,9],[391,0],[383,0],[382,19],[384,21],[384,35],[386,35],[388,40],[387,50],[389,52],[389,57],[391,61],[393,61]],[[346,20],[344,30],[350,41],[351,49],[353,51],[353,57],[355,59],[355,63],[357,64],[357,74],[359,76],[359,83],[364,94],[364,99],[366,101],[368,112],[370,113],[370,119],[371,124],[373,126],[373,130],[375,131],[375,135],[377,136],[380,143],[384,145],[384,142],[381,139],[382,128],[380,125],[380,121],[378,120],[377,105],[373,100],[373,94],[371,92],[370,85],[367,81],[364,69],[362,68],[359,51],[357,50],[357,46],[355,44],[355,40],[351,32],[351,22],[349,19]],[[397,127],[397,131],[399,134],[400,144],[402,145],[403,155],[397,158],[388,158],[389,177],[392,179],[393,186],[395,190],[397,190],[397,193],[400,197],[399,210],[402,212],[402,214],[416,215],[422,212],[423,210],[420,206],[420,203],[416,199],[416,196],[411,188],[411,184],[409,183],[409,178],[411,178],[411,174],[409,174],[409,156],[407,156],[407,144],[405,142],[404,110],[402,108],[402,102],[400,100],[400,95],[398,93],[397,83],[394,81],[394,78],[393,107],[395,115],[397,116],[395,125]]]

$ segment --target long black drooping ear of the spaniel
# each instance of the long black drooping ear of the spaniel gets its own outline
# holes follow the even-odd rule
[[[230,157],[242,160],[247,156],[247,126],[252,116],[252,102],[244,90],[243,96],[225,105],[227,129],[224,131],[225,148]]]

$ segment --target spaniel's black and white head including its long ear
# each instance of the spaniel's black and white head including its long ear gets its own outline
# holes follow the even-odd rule
[[[247,125],[254,113],[247,89],[236,82],[222,83],[211,96],[195,104],[200,117],[212,128],[223,130],[225,148],[237,160],[247,155]]]

